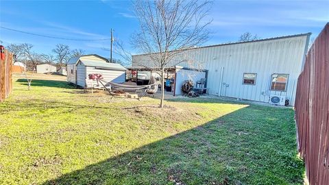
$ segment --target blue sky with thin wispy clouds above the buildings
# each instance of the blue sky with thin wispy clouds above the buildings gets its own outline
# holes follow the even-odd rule
[[[34,34],[77,39],[114,37],[127,49],[138,22],[131,11],[131,1],[3,1],[0,0],[0,25]],[[260,38],[312,32],[317,36],[329,21],[329,0],[326,1],[214,1],[209,18],[210,40],[204,45],[234,42],[243,32]],[[88,42],[56,40],[12,32],[0,28],[2,45],[27,42],[38,53],[50,53],[57,44],[86,53],[109,56],[102,48],[109,40]],[[116,56],[114,56],[116,57]]]

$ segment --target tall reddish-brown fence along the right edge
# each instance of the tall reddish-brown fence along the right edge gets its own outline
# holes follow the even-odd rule
[[[295,112],[308,181],[329,184],[329,23],[306,55],[297,82]]]

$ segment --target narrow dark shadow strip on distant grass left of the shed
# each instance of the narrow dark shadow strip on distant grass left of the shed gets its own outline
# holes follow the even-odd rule
[[[20,82],[27,86],[27,79],[17,79],[16,82]],[[75,88],[69,82],[59,81],[59,80],[49,80],[49,79],[32,79],[31,82],[32,88],[34,86],[47,86],[47,87],[55,87],[55,88]]]

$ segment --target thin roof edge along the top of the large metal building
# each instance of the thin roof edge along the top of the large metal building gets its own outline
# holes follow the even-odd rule
[[[262,41],[267,41],[267,40],[278,40],[278,39],[283,39],[283,38],[293,38],[293,37],[299,37],[299,36],[310,36],[311,34],[312,33],[308,32],[306,34],[295,34],[295,35],[289,35],[289,36],[278,36],[278,37],[262,38],[262,39],[258,39],[258,40],[249,40],[249,41],[228,42],[228,43],[223,43],[223,44],[219,44],[219,45],[207,45],[207,46],[201,46],[201,47],[192,47],[192,48],[186,48],[186,49],[182,49],[182,50],[200,49],[200,48],[206,48],[206,47],[218,47],[218,46],[225,46],[225,45],[239,45],[239,44],[250,43],[250,42],[262,42]],[[143,54],[138,54],[138,55],[133,55],[133,56],[147,56],[149,54],[150,53],[143,53]]]

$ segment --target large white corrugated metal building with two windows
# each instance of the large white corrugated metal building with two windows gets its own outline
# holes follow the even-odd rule
[[[210,95],[269,103],[280,99],[278,104],[289,99],[294,104],[309,38],[310,33],[196,47],[184,50],[169,66],[185,60],[190,62],[179,65],[202,66]],[[132,66],[152,64],[149,54],[132,56]]]

